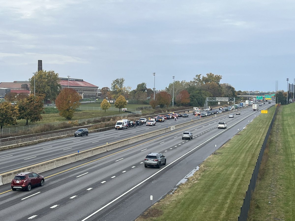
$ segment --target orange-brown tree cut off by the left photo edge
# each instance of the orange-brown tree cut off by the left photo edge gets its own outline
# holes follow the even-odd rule
[[[15,125],[17,123],[16,118],[18,116],[18,107],[11,105],[10,102],[0,103],[0,126]]]

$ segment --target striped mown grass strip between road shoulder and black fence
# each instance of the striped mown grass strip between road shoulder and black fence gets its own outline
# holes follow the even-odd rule
[[[136,221],[237,220],[275,107],[209,156],[188,181]],[[197,165],[196,165],[197,166]]]

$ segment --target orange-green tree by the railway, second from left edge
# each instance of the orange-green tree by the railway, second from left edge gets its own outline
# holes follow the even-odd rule
[[[31,122],[42,120],[43,99],[44,97],[35,97],[33,94],[30,94],[28,97],[19,100],[17,103],[19,109],[17,119],[25,119],[27,121],[26,125],[28,125],[29,120]]]

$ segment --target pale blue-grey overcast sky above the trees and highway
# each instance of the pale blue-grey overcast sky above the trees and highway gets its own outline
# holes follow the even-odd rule
[[[236,90],[294,81],[295,3],[196,0],[0,0],[0,82],[37,70],[110,87],[165,89],[212,72]]]

